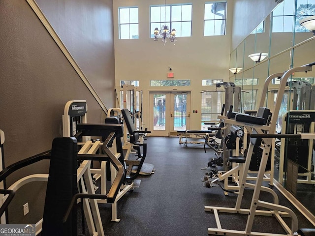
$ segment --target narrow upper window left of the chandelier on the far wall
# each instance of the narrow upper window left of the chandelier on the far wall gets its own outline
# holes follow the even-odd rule
[[[138,7],[119,8],[119,39],[139,38]]]

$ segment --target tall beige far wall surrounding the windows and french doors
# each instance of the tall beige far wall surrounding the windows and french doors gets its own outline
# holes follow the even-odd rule
[[[232,30],[232,4],[228,0],[227,28],[223,36],[203,36],[205,0],[172,0],[167,4],[192,2],[192,36],[178,37],[176,45],[167,42],[163,46],[159,40],[150,38],[150,5],[161,4],[155,0],[115,0],[114,1],[114,38],[116,86],[121,80],[139,80],[144,91],[144,127],[149,127],[148,108],[150,80],[165,80],[168,66],[172,66],[176,80],[190,80],[191,111],[201,110],[201,94],[204,79],[223,79],[228,81],[229,54]],[[139,39],[118,39],[118,7],[138,6]],[[163,88],[165,89],[165,88]],[[170,88],[172,89],[172,88]],[[192,114],[192,112],[191,112]],[[190,129],[200,129],[201,113],[192,114]]]

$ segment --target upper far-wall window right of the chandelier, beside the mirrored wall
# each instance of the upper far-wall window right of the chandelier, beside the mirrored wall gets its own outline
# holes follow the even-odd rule
[[[224,35],[226,1],[205,3],[204,36]]]

